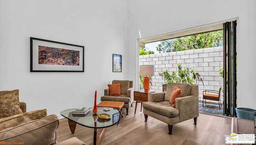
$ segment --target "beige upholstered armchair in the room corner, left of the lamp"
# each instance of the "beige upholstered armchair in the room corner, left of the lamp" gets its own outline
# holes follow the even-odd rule
[[[104,89],[104,96],[100,98],[101,101],[121,101],[124,102],[124,107],[126,108],[126,115],[128,115],[128,109],[131,106],[131,98],[133,98],[133,87],[132,81],[128,80],[113,80],[112,84],[120,83],[120,94],[111,95],[110,85],[109,88]]]

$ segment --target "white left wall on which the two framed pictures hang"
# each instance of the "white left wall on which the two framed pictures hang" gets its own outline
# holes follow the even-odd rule
[[[85,47],[85,72],[30,72],[30,37]],[[113,79],[127,79],[127,3],[120,0],[1,0],[0,91],[19,89],[27,110],[93,106]],[[122,73],[112,72],[122,55]]]

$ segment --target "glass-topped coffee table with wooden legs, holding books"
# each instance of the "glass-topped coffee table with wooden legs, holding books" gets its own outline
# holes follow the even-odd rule
[[[102,119],[97,117],[97,115],[92,115],[91,111],[85,116],[73,116],[72,111],[74,109],[67,109],[60,112],[60,114],[68,119],[68,125],[70,128],[71,133],[75,132],[76,124],[80,124],[84,127],[89,127],[94,129],[94,137],[93,137],[93,144],[99,145],[100,141],[106,131],[106,127],[110,127],[118,122],[120,117],[120,112],[117,109],[110,108],[109,111],[103,111],[105,107],[97,107],[98,108],[98,115],[101,113],[105,113],[110,115],[109,119]],[[102,128],[102,132],[97,135],[98,129]]]

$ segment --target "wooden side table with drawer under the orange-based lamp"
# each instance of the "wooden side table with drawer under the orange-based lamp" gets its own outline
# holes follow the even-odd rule
[[[136,101],[134,114],[136,114],[138,102],[141,103],[140,111],[142,111],[142,103],[146,101],[150,101],[150,93],[154,93],[154,91],[148,91],[148,92],[145,92],[144,90],[134,91],[134,101]]]

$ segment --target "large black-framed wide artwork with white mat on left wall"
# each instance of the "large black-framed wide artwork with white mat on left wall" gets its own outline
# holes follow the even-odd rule
[[[30,72],[84,72],[84,46],[30,37]]]

